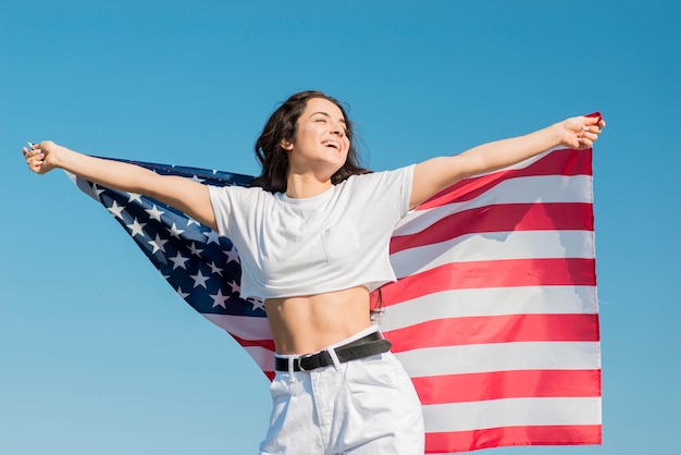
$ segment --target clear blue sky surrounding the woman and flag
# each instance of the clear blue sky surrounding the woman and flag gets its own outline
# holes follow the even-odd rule
[[[350,104],[376,170],[603,111],[604,445],[492,453],[681,453],[680,4],[2,2],[0,454],[256,453],[265,377],[20,150],[255,173],[267,116],[308,88]]]

